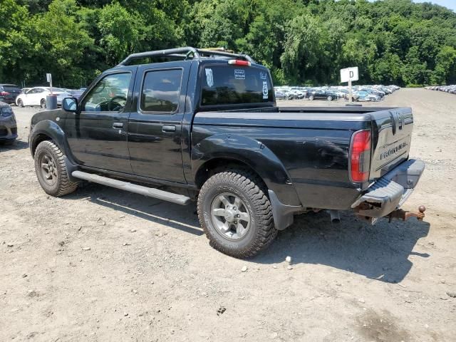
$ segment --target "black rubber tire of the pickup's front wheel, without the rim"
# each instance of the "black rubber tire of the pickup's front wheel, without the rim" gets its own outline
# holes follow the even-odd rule
[[[43,173],[41,172],[43,155],[50,156],[56,165],[57,180],[53,185],[46,182]],[[50,140],[40,142],[38,147],[36,147],[34,157],[36,177],[38,177],[38,182],[46,194],[58,197],[68,195],[76,190],[78,183],[70,182],[70,180],[68,180],[68,172],[66,170],[65,160],[63,159],[63,153],[56,144]]]

